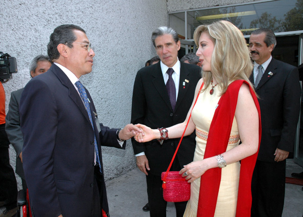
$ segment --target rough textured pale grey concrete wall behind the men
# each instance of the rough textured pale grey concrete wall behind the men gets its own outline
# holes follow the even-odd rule
[[[74,24],[87,32],[96,54],[92,72],[80,80],[90,91],[99,121],[110,127],[130,122],[136,72],[156,54],[151,33],[168,24],[165,0],[1,1],[0,17],[0,51],[16,57],[18,66],[18,73],[4,83],[6,111],[10,93],[30,80],[30,61],[47,54],[54,28]],[[126,150],[103,148],[103,160],[107,180],[134,168],[130,141]]]

